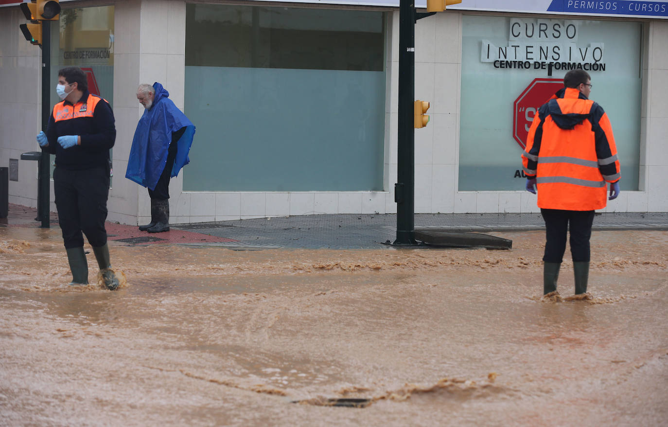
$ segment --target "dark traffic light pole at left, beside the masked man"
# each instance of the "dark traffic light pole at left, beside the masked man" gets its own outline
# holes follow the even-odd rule
[[[42,110],[41,128],[46,132],[49,126],[51,109],[51,21],[41,21],[42,24]],[[41,227],[48,229],[49,224],[49,152],[42,150],[37,167],[37,217]]]

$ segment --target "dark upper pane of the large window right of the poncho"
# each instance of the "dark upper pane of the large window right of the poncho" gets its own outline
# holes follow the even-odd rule
[[[186,5],[186,65],[383,71],[383,14]]]

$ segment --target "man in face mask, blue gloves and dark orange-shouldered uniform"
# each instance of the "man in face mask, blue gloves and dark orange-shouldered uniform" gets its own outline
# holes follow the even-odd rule
[[[107,231],[107,198],[110,184],[109,150],[116,141],[114,112],[109,103],[88,92],[88,79],[79,67],[58,71],[55,104],[46,134],[37,142],[55,154],[53,192],[67,260],[70,285],[88,284],[88,262],[83,234],[93,247],[107,289],[118,288],[110,268]],[[82,234],[83,233],[83,234]]]

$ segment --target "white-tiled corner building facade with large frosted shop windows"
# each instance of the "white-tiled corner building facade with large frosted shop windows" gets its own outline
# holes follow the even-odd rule
[[[591,74],[615,132],[622,192],[605,211],[668,211],[668,2],[498,3],[463,0],[415,25],[415,99],[431,103],[415,130],[415,212],[538,212],[523,138],[572,67]],[[19,159],[38,150],[41,49],[23,39],[17,3],[0,5],[0,166],[9,202],[36,206],[36,162]],[[124,176],[136,88],[153,82],[197,128],[170,222],[396,212],[398,1],[61,7],[51,103],[57,69],[77,65],[114,108],[108,220],[150,218],[146,188]]]

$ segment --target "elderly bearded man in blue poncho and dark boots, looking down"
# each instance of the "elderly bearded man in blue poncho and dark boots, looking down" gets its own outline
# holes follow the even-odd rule
[[[169,181],[190,162],[195,134],[195,126],[168,96],[157,82],[137,89],[145,110],[134,131],[126,178],[148,188],[151,222],[139,227],[148,233],[169,231]]]

